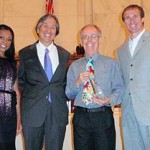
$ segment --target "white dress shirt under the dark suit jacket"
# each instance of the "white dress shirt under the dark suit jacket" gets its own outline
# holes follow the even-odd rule
[[[41,65],[44,69],[44,56],[45,56],[45,49],[47,48],[49,50],[49,57],[52,62],[52,70],[53,74],[56,71],[56,68],[59,65],[59,59],[58,59],[58,50],[57,47],[54,45],[54,43],[50,44],[48,47],[45,47],[40,41],[36,44],[37,48],[37,55],[41,62]]]

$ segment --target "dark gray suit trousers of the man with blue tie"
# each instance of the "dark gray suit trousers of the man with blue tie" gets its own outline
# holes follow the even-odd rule
[[[59,126],[48,109],[44,123],[40,127],[23,126],[26,150],[62,150],[66,126]],[[60,112],[61,113],[61,112]]]

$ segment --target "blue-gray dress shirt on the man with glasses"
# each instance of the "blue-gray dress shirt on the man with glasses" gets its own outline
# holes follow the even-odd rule
[[[106,97],[110,99],[109,106],[121,103],[121,96],[124,89],[123,79],[117,61],[110,57],[103,56],[97,52],[93,57],[94,78],[100,85]],[[76,80],[81,72],[86,71],[88,56],[72,62],[67,73],[66,95],[69,99],[74,99],[74,105],[86,108],[100,107],[98,104],[90,103],[86,105],[82,101],[83,85],[76,86]]]

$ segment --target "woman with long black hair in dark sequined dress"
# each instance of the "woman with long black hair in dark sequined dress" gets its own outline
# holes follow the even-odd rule
[[[0,24],[0,150],[15,150],[15,137],[22,130],[14,32]]]

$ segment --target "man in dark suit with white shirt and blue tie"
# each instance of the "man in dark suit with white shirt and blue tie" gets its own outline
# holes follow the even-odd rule
[[[36,26],[39,40],[19,51],[19,88],[22,95],[22,123],[26,150],[62,150],[68,108],[65,85],[70,53],[54,44],[59,22],[54,15],[42,16]],[[44,68],[45,49],[52,65],[49,80]]]

